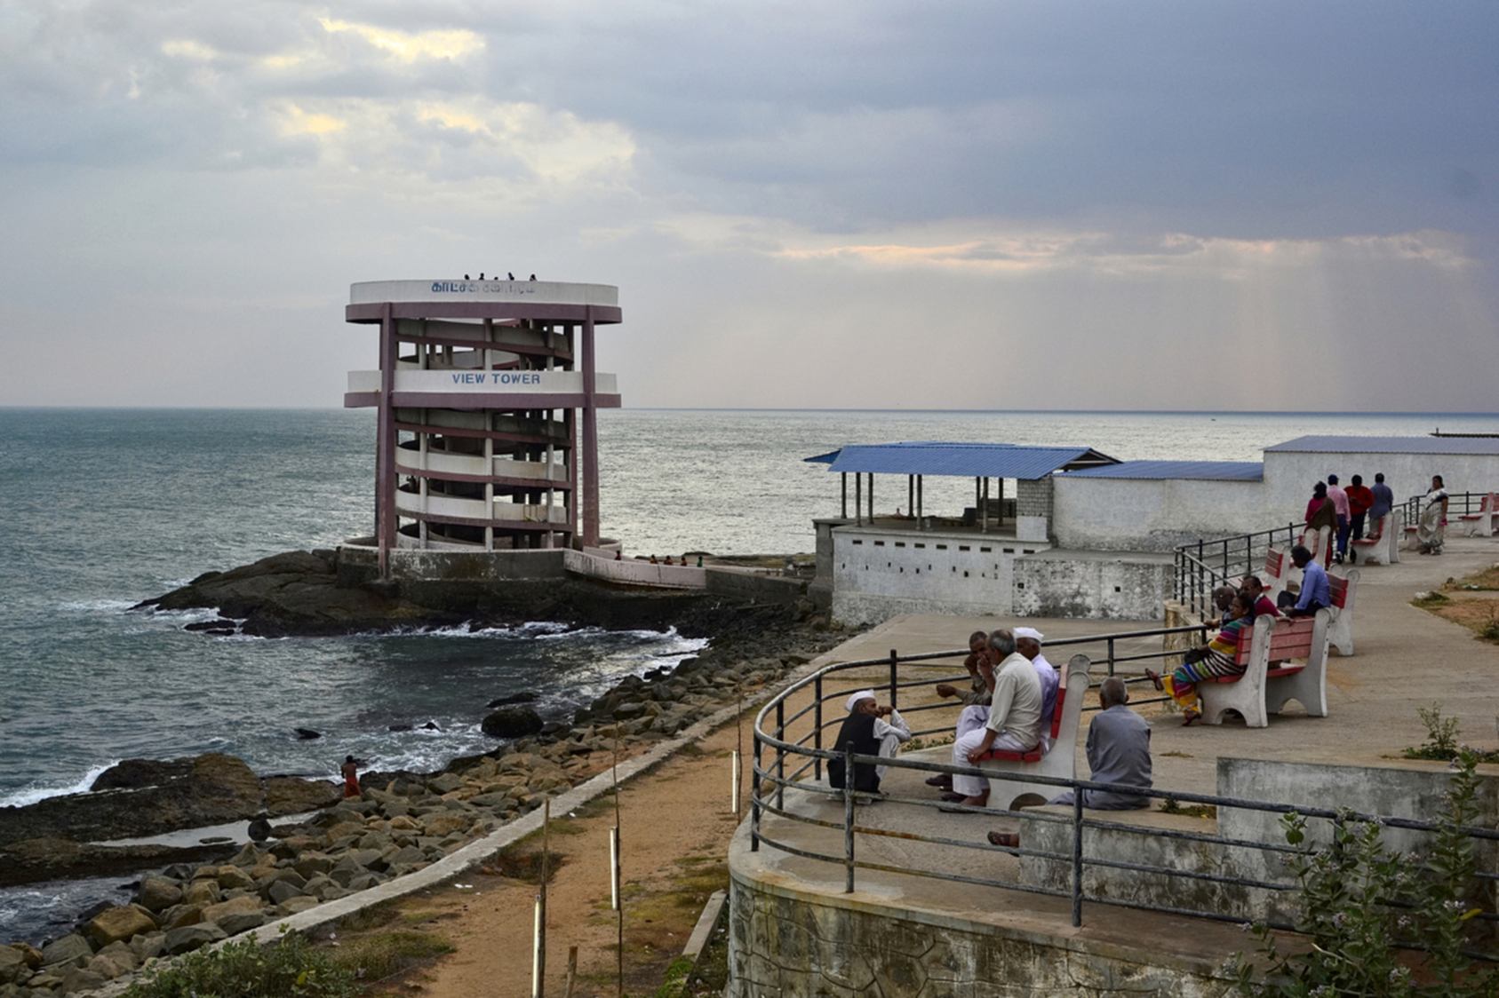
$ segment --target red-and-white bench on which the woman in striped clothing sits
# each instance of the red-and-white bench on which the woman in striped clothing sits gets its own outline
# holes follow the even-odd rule
[[[1237,710],[1246,727],[1265,728],[1270,715],[1280,713],[1289,700],[1325,718],[1328,626],[1327,610],[1318,610],[1315,617],[1256,617],[1253,629],[1238,635],[1235,661],[1244,665],[1244,674],[1198,683],[1202,721],[1223,724],[1223,713]],[[1297,658],[1304,658],[1306,665],[1270,668],[1271,659]]]

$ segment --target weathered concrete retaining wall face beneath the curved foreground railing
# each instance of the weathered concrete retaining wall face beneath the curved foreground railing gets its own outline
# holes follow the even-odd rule
[[[1190,923],[1183,952],[1160,946],[1183,935],[1180,919],[1172,932],[1159,916],[1094,907],[1073,929],[1066,899],[916,877],[859,871],[860,890],[844,895],[791,872],[805,863],[769,847],[751,853],[748,823],[735,836],[729,998],[1217,998],[1232,992],[1223,958],[1246,949],[1229,926]],[[841,881],[841,866],[830,871]]]

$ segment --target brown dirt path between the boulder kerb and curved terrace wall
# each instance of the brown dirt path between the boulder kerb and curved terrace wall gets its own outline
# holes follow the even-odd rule
[[[744,718],[745,754],[754,713]],[[730,811],[729,724],[648,773],[621,785],[625,994],[660,988],[712,892],[727,887],[724,860],[738,821]],[[745,766],[748,770],[748,763]],[[745,778],[744,788],[748,788]],[[741,791],[742,806],[748,794]],[[579,949],[576,997],[616,995],[616,914],[610,910],[609,829],[615,799],[553,814],[553,872],[547,899],[546,994],[562,995],[568,947]],[[541,836],[507,850],[492,865],[432,893],[400,902],[400,920],[441,932],[454,952],[391,982],[385,994],[435,998],[529,998],[534,902]]]

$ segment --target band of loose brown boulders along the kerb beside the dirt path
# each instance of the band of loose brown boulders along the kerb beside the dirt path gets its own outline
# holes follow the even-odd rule
[[[247,844],[226,862],[175,863],[147,874],[129,905],[91,911],[75,932],[40,949],[0,946],[0,998],[85,992],[133,974],[151,959],[186,953],[421,869],[609,769],[616,746],[619,758],[645,751],[847,637],[829,634],[821,622],[797,623],[803,614],[796,608],[738,610],[714,647],[675,668],[627,677],[579,709],[571,724],[553,721],[535,736],[453,760],[436,773],[366,773],[360,797],[340,799],[306,823],[276,827],[274,842]],[[181,763],[195,760],[172,766],[181,770]],[[234,770],[219,761],[214,766]],[[133,764],[118,769],[103,797],[129,793],[132,788],[115,784],[151,772]],[[240,781],[247,788],[243,775]],[[4,848],[10,847],[0,845]]]

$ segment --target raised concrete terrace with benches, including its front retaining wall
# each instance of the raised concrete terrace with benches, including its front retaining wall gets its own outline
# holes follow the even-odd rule
[[[1309,718],[1298,706],[1271,718],[1268,728],[1246,728],[1237,719],[1222,727],[1183,727],[1180,715],[1145,707],[1151,724],[1156,787],[1213,794],[1219,757],[1384,766],[1439,770],[1442,763],[1400,760],[1400,749],[1420,745],[1427,731],[1418,706],[1441,703],[1445,716],[1462,722],[1465,740],[1493,746],[1499,715],[1499,647],[1472,632],[1417,610],[1417,592],[1441,586],[1499,562],[1499,538],[1450,536],[1447,553],[1436,557],[1405,554],[1396,565],[1361,569],[1355,635],[1358,655],[1328,665],[1328,718]],[[1135,625],[1097,620],[1006,620],[997,617],[904,616],[859,635],[818,664],[962,647],[971,631],[1022,623],[1036,626],[1048,643],[1061,637],[1133,629]],[[1139,622],[1139,628],[1159,626]],[[1160,638],[1120,641],[1118,650],[1154,647]],[[1049,655],[1064,664],[1076,647]],[[952,658],[926,671],[953,674]],[[901,667],[902,677],[916,674]],[[1120,673],[1138,673],[1121,667]],[[1094,670],[1094,679],[1102,673]],[[826,692],[871,685],[881,703],[889,700],[889,668],[860,668],[829,680]],[[1139,686],[1132,686],[1142,695]],[[1147,688],[1148,689],[1148,688]],[[1148,691],[1153,695],[1153,691]],[[809,691],[790,698],[787,733],[803,737],[811,715],[793,719],[809,703]],[[929,688],[898,691],[898,704],[913,730],[950,725],[956,710]],[[941,704],[934,709],[934,704]],[[824,721],[832,719],[827,704]],[[770,715],[773,724],[773,715]],[[1087,775],[1082,739],[1075,746],[1078,775]],[[946,760],[941,746],[917,748],[917,757]],[[766,755],[769,760],[769,754]],[[1489,773],[1499,767],[1484,766]],[[803,778],[811,781],[811,773]],[[884,790],[892,797],[932,800],[937,791],[920,773],[892,770]],[[1297,802],[1294,802],[1297,803]],[[1300,802],[1315,805],[1318,802]],[[838,824],[842,805],[826,787],[793,788],[785,805],[797,814]],[[1162,814],[1091,812],[1108,820],[1165,823],[1211,832],[1211,820]],[[985,880],[1021,881],[1019,862],[985,842],[989,829],[1016,830],[1019,818],[982,814],[943,814],[886,800],[857,809],[856,824],[895,836],[860,833],[856,856],[862,862],[914,871],[959,871]],[[1028,820],[1027,820],[1028,823]],[[1096,995],[1114,991],[1159,995],[1226,994],[1220,974],[1225,958],[1252,949],[1253,941],[1231,925],[1184,919],[1100,904],[1084,907],[1084,925],[1070,925],[1070,902],[1021,890],[938,881],[908,872],[856,872],[856,892],[844,895],[842,830],[766,817],[761,830],[799,850],[839,862],[799,857],[775,848],[750,851],[742,829],[730,853],[735,880],[732,926],[735,985],[732,995]],[[905,835],[941,836],[950,845],[914,842]],[[776,928],[779,926],[779,928]]]

